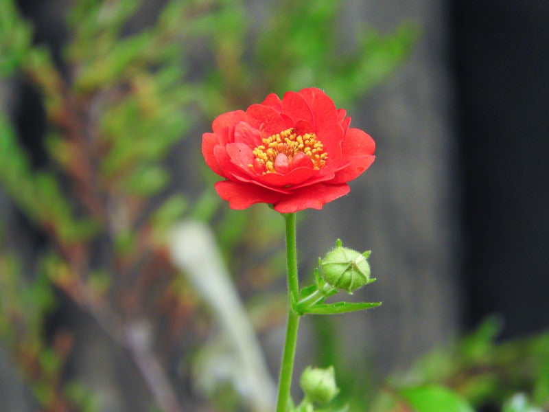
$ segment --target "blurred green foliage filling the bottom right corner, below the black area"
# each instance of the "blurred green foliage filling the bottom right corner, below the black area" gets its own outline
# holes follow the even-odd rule
[[[439,398],[452,405],[445,411],[472,411],[466,401],[475,408],[546,410],[549,334],[498,342],[501,330],[500,319],[489,318],[463,339],[425,354],[406,373],[389,378],[372,411],[399,411],[409,402],[414,410],[429,412],[429,402]]]

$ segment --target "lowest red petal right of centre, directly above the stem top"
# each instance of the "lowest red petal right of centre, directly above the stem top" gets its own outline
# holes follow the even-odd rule
[[[279,202],[274,203],[274,209],[281,213],[293,213],[303,209],[322,209],[325,203],[334,201],[349,191],[349,185],[345,183],[342,185],[318,183],[303,187],[294,194],[283,196]]]

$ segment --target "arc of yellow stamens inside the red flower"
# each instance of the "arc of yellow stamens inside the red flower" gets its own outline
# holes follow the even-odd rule
[[[252,152],[257,165],[263,169],[263,174],[277,172],[274,168],[274,161],[280,153],[286,155],[290,163],[296,153],[305,153],[313,162],[314,170],[320,170],[328,159],[328,154],[324,152],[324,145],[316,140],[314,133],[297,135],[294,128],[266,137],[262,139],[261,143]],[[254,168],[251,164],[248,167]]]

